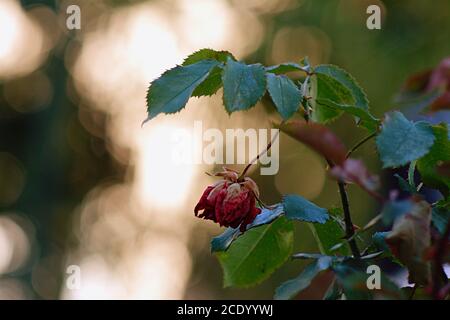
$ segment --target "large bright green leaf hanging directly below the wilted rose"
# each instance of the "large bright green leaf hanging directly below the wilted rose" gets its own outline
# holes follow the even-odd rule
[[[218,252],[224,286],[248,287],[267,279],[291,256],[292,222],[284,217],[245,232],[225,252]]]

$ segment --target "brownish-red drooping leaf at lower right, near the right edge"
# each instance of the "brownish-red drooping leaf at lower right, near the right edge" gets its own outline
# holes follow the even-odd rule
[[[418,201],[410,212],[395,220],[385,238],[392,253],[408,268],[409,281],[419,285],[430,281],[430,263],[426,257],[431,243],[430,223],[430,205]]]

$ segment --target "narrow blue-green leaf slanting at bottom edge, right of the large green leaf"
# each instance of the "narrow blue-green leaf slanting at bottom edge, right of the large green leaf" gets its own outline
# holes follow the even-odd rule
[[[320,257],[313,263],[306,266],[298,277],[281,284],[281,286],[276,289],[274,298],[276,300],[288,300],[294,298],[301,291],[309,287],[311,282],[321,271],[330,268],[332,263],[332,257]]]

